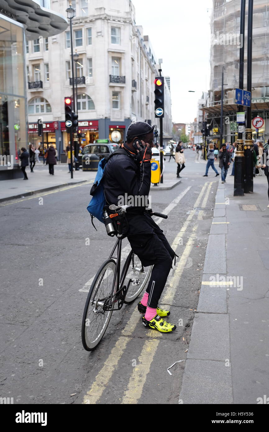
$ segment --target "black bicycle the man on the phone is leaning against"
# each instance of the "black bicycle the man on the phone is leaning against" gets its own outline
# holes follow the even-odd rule
[[[92,351],[101,342],[108,327],[113,311],[119,311],[123,304],[132,303],[142,292],[149,280],[152,267],[147,270],[141,264],[139,257],[131,250],[120,272],[121,243],[123,238],[123,222],[126,220],[127,206],[109,206],[109,222],[112,220],[115,226],[117,241],[108,258],[95,275],[86,300],[81,337],[83,347]],[[158,216],[167,219],[167,215],[152,213],[150,216]],[[108,231],[108,230],[107,230]],[[116,256],[114,252],[117,249]],[[115,308],[117,304],[117,308]]]

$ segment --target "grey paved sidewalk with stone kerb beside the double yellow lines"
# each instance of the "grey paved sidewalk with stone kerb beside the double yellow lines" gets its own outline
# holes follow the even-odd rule
[[[233,179],[219,181],[180,403],[269,396],[268,184],[234,197]]]

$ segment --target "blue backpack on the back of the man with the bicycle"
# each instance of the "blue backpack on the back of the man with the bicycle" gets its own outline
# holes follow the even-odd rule
[[[106,205],[106,200],[105,200],[105,196],[104,196],[104,186],[103,186],[104,168],[105,168],[108,160],[114,155],[129,156],[126,150],[118,149],[114,153],[111,153],[111,155],[101,159],[101,161],[99,162],[97,174],[95,177],[95,182],[92,185],[91,192],[90,192],[90,194],[92,195],[92,199],[90,200],[89,205],[87,207],[87,210],[90,213],[91,218],[92,218],[92,225],[93,226],[94,226],[93,218],[95,218],[95,217],[100,222],[104,223],[103,209],[104,209],[104,206]],[[129,156],[129,157],[131,157],[131,156]],[[95,228],[95,226],[94,226],[94,228]]]

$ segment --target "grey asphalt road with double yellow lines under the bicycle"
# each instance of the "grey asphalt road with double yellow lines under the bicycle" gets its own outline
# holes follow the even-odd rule
[[[186,359],[218,180],[212,170],[202,177],[205,165],[195,152],[185,156],[181,184],[152,191],[153,210],[169,212],[160,227],[180,256],[161,298],[177,324],[172,334],[145,329],[137,300],[112,314],[94,352],[83,349],[87,282],[115,241],[100,223],[98,232],[91,225],[89,184],[0,204],[1,397],[25,404],[178,403],[184,362],[172,376],[167,368]],[[176,164],[166,161],[165,169]]]

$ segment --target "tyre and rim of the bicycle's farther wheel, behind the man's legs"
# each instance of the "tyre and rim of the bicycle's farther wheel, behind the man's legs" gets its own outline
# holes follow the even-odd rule
[[[137,280],[141,280],[141,277],[142,277],[141,276],[142,275],[142,264],[141,264],[141,261],[139,260],[139,257],[136,254],[134,254],[133,251],[130,251],[130,254],[128,255],[128,257],[127,257],[127,259],[125,261],[125,264],[123,266],[123,270],[122,270],[121,278],[120,278],[120,280],[122,280],[122,277],[123,277],[124,273],[126,272],[126,276],[124,278],[125,279],[124,282],[126,281],[126,277],[128,276],[128,271],[129,271],[130,265],[132,265],[132,267],[133,267],[133,264],[132,264],[132,255],[134,255],[134,267],[137,268],[139,266],[139,268],[141,270],[140,271],[137,270],[136,272],[134,272],[133,269],[131,269],[131,272],[134,273],[134,278],[135,278],[136,281]],[[128,263],[129,263],[129,265],[128,265]],[[128,265],[128,269],[126,270],[127,265]],[[132,285],[131,285],[132,282],[130,283],[130,286],[129,286],[128,290],[127,290],[127,293],[126,293],[126,296],[125,296],[125,299],[124,299],[124,303],[125,304],[128,305],[128,304],[132,303],[135,299],[137,299],[137,297],[142,292],[142,290],[145,288],[146,283],[149,280],[149,277],[150,277],[150,274],[151,274],[151,271],[152,271],[152,267],[153,266],[149,266],[147,268],[147,270],[143,272],[143,273],[145,273],[145,277],[142,279],[142,282],[140,283],[140,285],[133,285],[133,286],[137,286],[138,287],[137,290],[136,289],[132,289],[131,288],[132,287]],[[126,281],[126,283],[128,283],[128,282]],[[123,285],[123,283],[121,283],[121,286],[122,285]]]

